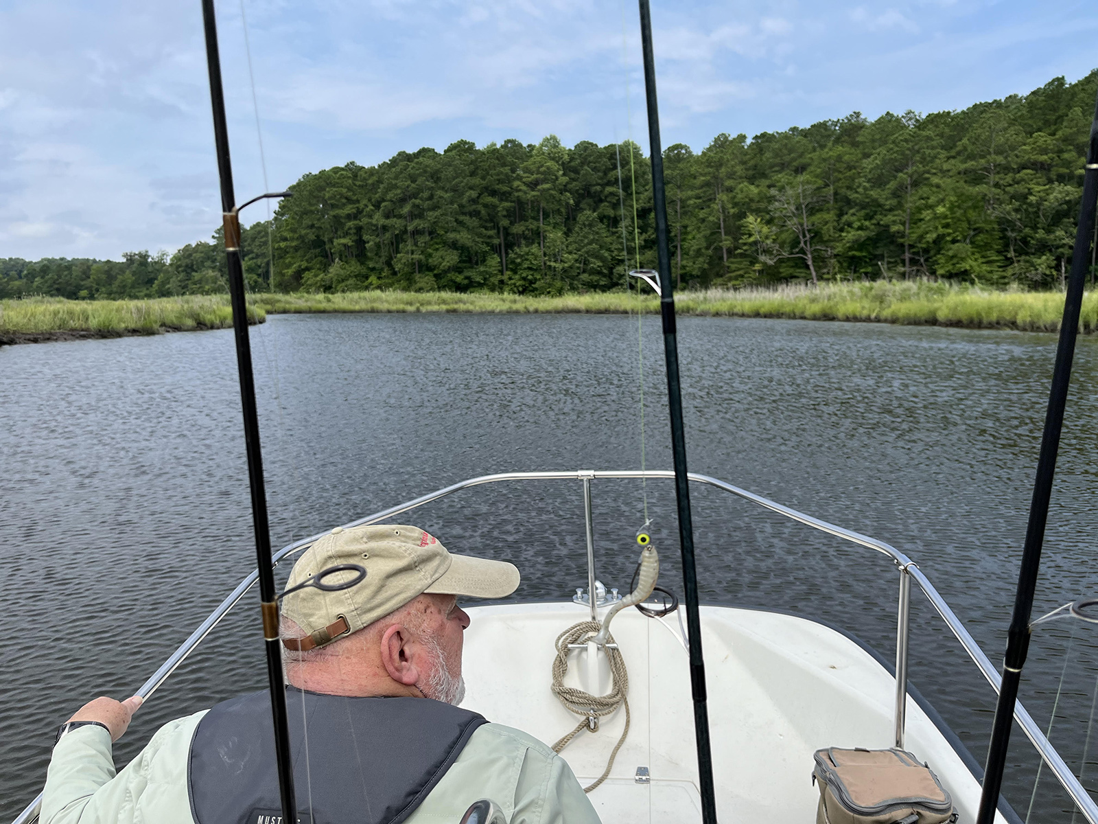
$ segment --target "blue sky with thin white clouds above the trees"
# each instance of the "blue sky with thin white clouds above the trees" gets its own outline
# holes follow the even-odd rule
[[[217,19],[238,201],[457,140],[648,146],[631,0],[221,0]],[[695,151],[1098,67],[1094,2],[652,0],[652,27],[663,145]],[[199,0],[0,0],[0,257],[170,253],[219,213]]]

